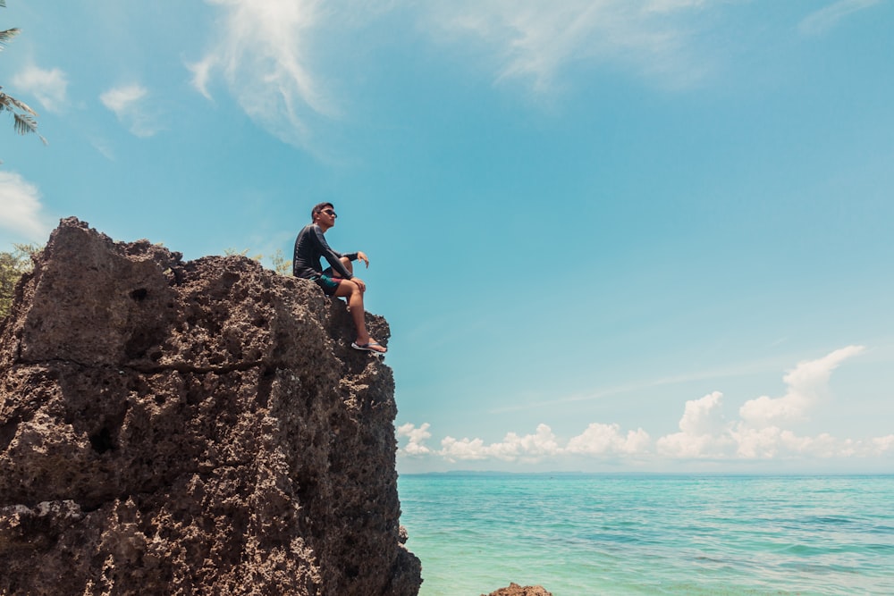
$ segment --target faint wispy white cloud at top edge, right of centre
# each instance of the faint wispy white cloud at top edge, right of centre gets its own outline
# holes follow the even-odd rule
[[[524,80],[550,94],[562,69],[572,63],[621,64],[674,86],[704,73],[704,58],[687,49],[689,18],[698,0],[469,0],[435,4],[433,29],[460,43],[484,44],[496,80]]]

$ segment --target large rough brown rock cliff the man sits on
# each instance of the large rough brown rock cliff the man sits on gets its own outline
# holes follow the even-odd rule
[[[16,291],[0,594],[417,594],[392,372],[343,303],[73,218]]]

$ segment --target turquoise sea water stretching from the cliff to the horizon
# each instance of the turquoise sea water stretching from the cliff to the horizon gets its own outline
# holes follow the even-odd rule
[[[894,594],[894,476],[402,475],[421,596]]]

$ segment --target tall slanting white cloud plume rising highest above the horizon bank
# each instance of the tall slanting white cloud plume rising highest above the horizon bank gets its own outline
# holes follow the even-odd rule
[[[762,396],[746,401],[739,408],[739,416],[755,427],[796,422],[805,418],[826,392],[831,372],[844,360],[863,351],[862,346],[837,349],[818,360],[799,363],[782,380],[789,390],[781,398]]]

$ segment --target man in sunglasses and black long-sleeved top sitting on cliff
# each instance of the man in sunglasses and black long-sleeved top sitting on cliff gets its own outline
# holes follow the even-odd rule
[[[295,277],[316,282],[326,296],[348,298],[348,309],[357,328],[357,339],[350,347],[367,352],[384,354],[388,350],[369,337],[367,323],[364,320],[363,293],[367,284],[354,277],[351,261],[360,260],[369,267],[369,259],[361,252],[342,255],[329,248],[323,237],[335,225],[335,207],[332,203],[320,203],[310,212],[312,222],[308,223],[295,240],[295,255],[292,258],[292,273]],[[320,266],[320,258],[325,257],[331,265],[325,271]]]

